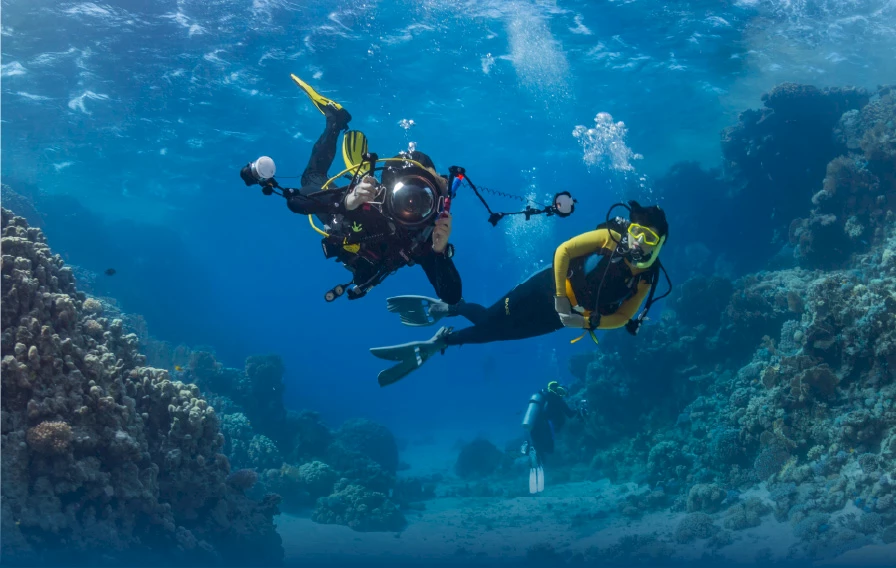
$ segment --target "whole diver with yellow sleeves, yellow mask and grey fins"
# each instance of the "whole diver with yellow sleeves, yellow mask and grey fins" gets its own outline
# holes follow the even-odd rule
[[[610,219],[619,206],[628,209],[629,219]],[[458,315],[473,325],[459,331],[442,327],[428,341],[372,348],[376,357],[398,361],[379,373],[380,386],[404,378],[452,345],[524,339],[563,327],[584,330],[573,342],[590,334],[596,343],[597,329],[625,327],[637,335],[654,302],[671,292],[669,276],[659,261],[668,233],[666,213],[659,206],[617,203],[596,230],[557,247],[553,267],[516,285],[491,307],[425,296],[389,298],[387,308],[398,313],[405,325],[432,325],[443,317]],[[669,291],[654,297],[660,272]],[[636,317],[645,298],[644,310]]]

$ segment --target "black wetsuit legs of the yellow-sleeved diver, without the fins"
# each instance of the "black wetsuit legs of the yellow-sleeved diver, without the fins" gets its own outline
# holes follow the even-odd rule
[[[525,339],[563,327],[554,309],[554,272],[550,266],[514,286],[489,308],[460,302],[451,307],[450,313],[465,317],[473,326],[446,335],[448,345]]]

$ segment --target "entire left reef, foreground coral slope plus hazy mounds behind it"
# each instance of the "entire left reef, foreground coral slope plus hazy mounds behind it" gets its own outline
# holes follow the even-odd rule
[[[189,562],[273,562],[282,553],[271,522],[279,495],[291,509],[323,499],[314,515],[321,522],[358,530],[404,523],[387,496],[399,462],[386,428],[355,420],[332,432],[315,412],[287,412],[279,357],[232,369],[211,352],[153,340],[139,318],[78,293],[40,231],[3,215],[10,558],[39,558],[63,542],[59,534],[83,530],[85,550],[167,543]],[[133,324],[139,337],[125,331]],[[145,367],[140,347],[171,370]],[[29,479],[38,480],[30,489]],[[412,496],[431,494],[421,487]],[[108,507],[122,499],[134,504],[119,519]],[[103,521],[83,529],[85,514]],[[119,525],[128,528],[110,528]]]

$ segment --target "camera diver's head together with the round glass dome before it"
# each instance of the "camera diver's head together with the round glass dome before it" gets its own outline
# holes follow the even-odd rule
[[[423,227],[438,212],[440,198],[447,194],[447,181],[436,173],[432,159],[423,152],[402,152],[396,158],[420,165],[410,161],[387,162],[382,176],[386,210],[396,223],[408,228]]]

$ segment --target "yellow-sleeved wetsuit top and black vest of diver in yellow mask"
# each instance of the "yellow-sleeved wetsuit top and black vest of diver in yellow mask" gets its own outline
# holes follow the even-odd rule
[[[616,329],[624,326],[632,319],[650,292],[649,278],[634,278],[637,275],[649,269],[642,269],[632,266],[626,259],[620,259],[619,263],[625,263],[627,270],[614,270],[612,276],[608,273],[601,287],[600,298],[595,297],[597,287],[603,278],[603,270],[592,270],[591,275],[584,274],[584,259],[592,254],[599,254],[604,257],[610,257],[616,249],[616,243],[621,240],[619,233],[610,229],[597,229],[583,233],[577,237],[566,241],[557,247],[554,252],[554,290],[557,297],[569,298],[570,304],[576,307],[577,301],[591,304],[581,305],[589,314],[592,311],[601,313],[600,324],[597,329]],[[581,262],[575,262],[581,260]],[[578,272],[577,278],[570,278],[570,267],[574,272]],[[620,282],[620,274],[627,277],[629,282]],[[637,290],[631,292],[630,284],[632,279],[636,280]],[[610,280],[613,280],[612,282]],[[628,292],[625,293],[625,289]],[[605,293],[606,292],[606,293]],[[604,310],[616,305],[614,296],[629,296],[612,312],[605,313]],[[590,302],[585,302],[585,298]]]

